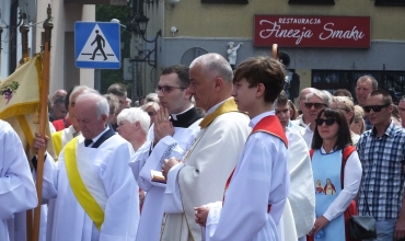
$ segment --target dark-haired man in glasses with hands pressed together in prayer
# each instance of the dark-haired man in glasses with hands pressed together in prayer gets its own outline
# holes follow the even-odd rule
[[[190,101],[188,72],[188,67],[181,65],[163,69],[155,89],[161,108],[155,115],[151,113],[153,125],[149,141],[131,160],[135,179],[147,192],[136,240],[160,240],[165,184],[154,182],[151,172],[161,171],[164,159],[181,157],[200,129],[198,124],[202,116]]]

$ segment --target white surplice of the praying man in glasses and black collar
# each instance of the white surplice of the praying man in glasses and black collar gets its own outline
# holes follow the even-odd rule
[[[194,107],[187,112],[197,113]],[[147,192],[139,220],[137,241],[159,241],[161,238],[164,215],[163,199],[166,185],[152,182],[151,171],[161,171],[164,159],[172,157],[181,158],[185,150],[193,144],[200,130],[198,124],[201,119],[199,118],[200,116],[193,115],[192,113],[190,115],[197,120],[188,126],[188,128],[174,127],[174,135],[162,138],[154,148],[151,147],[151,141],[147,141],[136,152],[129,163],[139,187]],[[173,125],[177,123],[174,122]]]

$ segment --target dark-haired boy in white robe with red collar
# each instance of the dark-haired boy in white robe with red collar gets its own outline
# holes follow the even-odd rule
[[[235,70],[232,95],[239,111],[248,113],[253,130],[223,200],[195,208],[207,241],[280,240],[277,226],[289,194],[288,141],[271,110],[284,83],[284,66],[274,59],[251,58]]]

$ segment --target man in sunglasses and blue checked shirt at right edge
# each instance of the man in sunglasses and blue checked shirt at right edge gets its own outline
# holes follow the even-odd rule
[[[373,128],[357,144],[362,165],[359,215],[375,221],[375,240],[405,237],[405,130],[391,120],[393,102],[389,92],[375,90],[363,106]]]

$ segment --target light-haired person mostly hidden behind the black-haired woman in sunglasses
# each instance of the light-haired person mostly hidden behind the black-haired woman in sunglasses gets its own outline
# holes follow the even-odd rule
[[[355,119],[355,104],[349,97],[334,96],[332,99],[331,108],[340,110],[346,117],[347,124],[349,126],[351,125],[351,123]],[[351,137],[352,145],[356,146],[357,141],[359,141],[360,139],[360,136],[350,130],[350,137]]]

